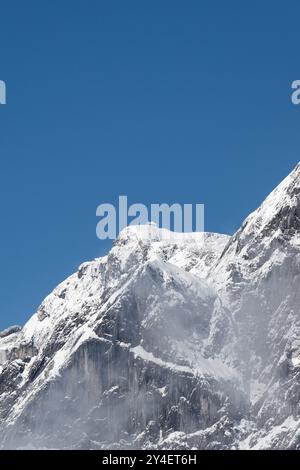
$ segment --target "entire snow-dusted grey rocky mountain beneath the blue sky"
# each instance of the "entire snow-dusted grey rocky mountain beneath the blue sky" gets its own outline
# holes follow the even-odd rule
[[[297,448],[299,197],[298,166],[232,237],[128,227],[80,266],[0,334],[2,448]]]

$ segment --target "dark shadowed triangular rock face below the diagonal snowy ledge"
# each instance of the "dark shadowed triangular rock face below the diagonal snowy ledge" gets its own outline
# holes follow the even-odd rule
[[[236,393],[236,396],[235,396]],[[4,447],[140,448],[173,431],[205,429],[218,412],[237,419],[243,402],[231,384],[195,377],[134,357],[109,341],[85,343],[64,374],[30,403]],[[238,411],[239,410],[239,411]]]

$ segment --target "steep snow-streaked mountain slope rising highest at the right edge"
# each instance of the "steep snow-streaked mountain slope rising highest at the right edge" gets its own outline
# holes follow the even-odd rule
[[[299,445],[299,229],[300,165],[246,219],[210,273],[238,329],[235,355],[258,416],[250,445],[258,447]]]

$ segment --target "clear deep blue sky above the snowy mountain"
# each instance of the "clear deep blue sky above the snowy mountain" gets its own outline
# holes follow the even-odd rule
[[[297,1],[0,4],[0,328],[104,253],[102,202],[232,233],[300,160]]]

